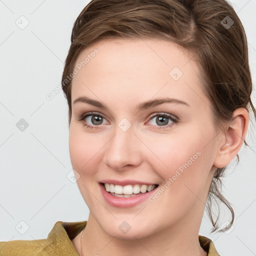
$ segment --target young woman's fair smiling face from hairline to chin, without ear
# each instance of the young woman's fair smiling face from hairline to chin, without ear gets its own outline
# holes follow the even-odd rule
[[[91,217],[116,238],[199,228],[217,133],[191,57],[163,40],[108,39],[86,48],[76,61],[70,159]],[[73,103],[78,97],[98,103]],[[175,100],[154,102],[166,98]],[[106,179],[158,187],[136,205],[118,207],[111,202],[119,197],[108,194],[108,201],[102,194],[100,182]]]

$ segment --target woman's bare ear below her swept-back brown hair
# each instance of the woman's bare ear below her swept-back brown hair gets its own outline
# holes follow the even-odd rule
[[[240,107],[234,110],[231,120],[221,134],[213,166],[225,167],[235,157],[244,141],[248,122],[249,114],[245,108]]]

